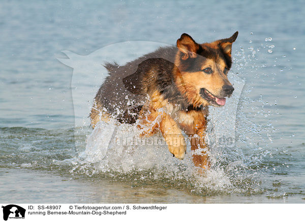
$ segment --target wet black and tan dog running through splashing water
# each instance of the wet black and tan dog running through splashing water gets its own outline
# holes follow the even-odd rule
[[[177,47],[159,48],[124,66],[106,64],[109,76],[95,97],[92,126],[115,118],[136,123],[141,136],[160,130],[169,151],[179,159],[186,152],[185,131],[195,166],[209,168],[204,142],[208,105],[224,105],[224,97],[234,90],[227,72],[237,35],[197,44],[182,34]]]

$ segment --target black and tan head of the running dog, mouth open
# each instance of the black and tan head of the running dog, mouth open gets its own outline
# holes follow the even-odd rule
[[[177,40],[176,84],[194,106],[223,106],[234,88],[228,80],[231,48],[238,32],[211,43],[196,43],[188,34]]]

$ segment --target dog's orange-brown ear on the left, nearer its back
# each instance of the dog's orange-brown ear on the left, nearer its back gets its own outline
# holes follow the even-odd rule
[[[182,60],[197,57],[199,45],[188,34],[181,35],[180,39],[177,40],[177,47],[184,54],[181,57]]]

